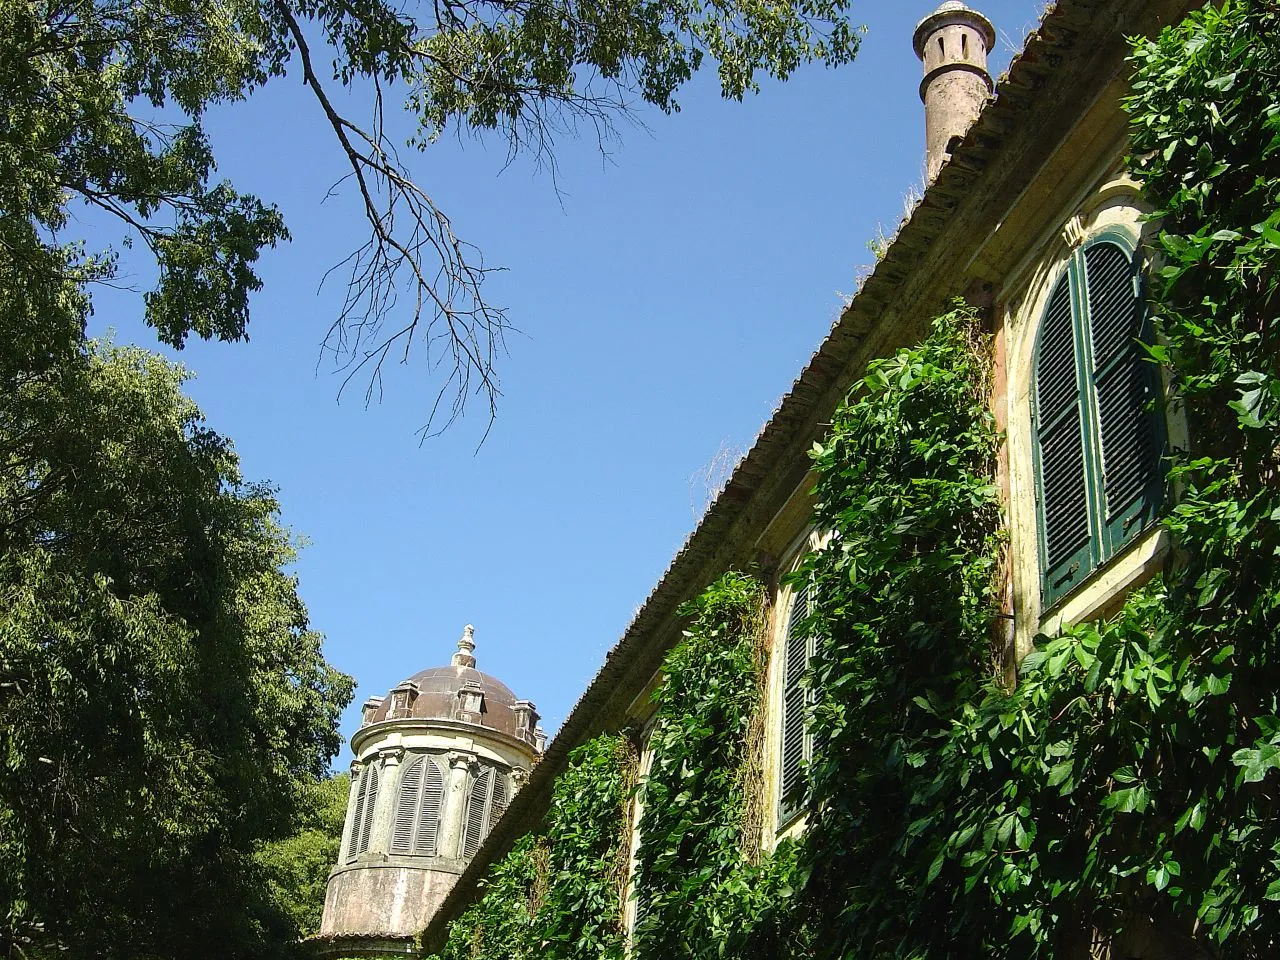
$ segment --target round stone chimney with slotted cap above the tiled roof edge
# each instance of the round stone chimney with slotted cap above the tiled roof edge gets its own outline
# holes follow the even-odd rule
[[[938,175],[959,140],[977,119],[995,86],[987,52],[996,44],[991,20],[960,0],[946,0],[915,28],[915,55],[924,61],[924,146],[928,179]]]

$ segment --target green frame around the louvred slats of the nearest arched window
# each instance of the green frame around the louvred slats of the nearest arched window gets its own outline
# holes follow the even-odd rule
[[[1110,524],[1107,522],[1102,424],[1098,410],[1098,379],[1101,371],[1094,367],[1094,343],[1091,328],[1093,303],[1091,303],[1088,296],[1088,273],[1085,268],[1088,252],[1105,243],[1121,250],[1129,260],[1134,283],[1135,311],[1139,311],[1137,319],[1138,337],[1148,343],[1153,339],[1151,311],[1147,307],[1144,296],[1146,276],[1138,238],[1124,227],[1107,225],[1092,233],[1084,242],[1071,250],[1057,276],[1048,285],[1048,296],[1041,310],[1032,349],[1030,445],[1042,616],[1061,605],[1069,596],[1091,582],[1102,568],[1139,540],[1144,531],[1155,526],[1164,503],[1164,471],[1155,468],[1151,471],[1140,497],[1134,500],[1133,506],[1123,511],[1123,513],[1130,513],[1134,507],[1138,507],[1139,512],[1146,515],[1143,522],[1132,522],[1138,515],[1123,521],[1116,518]],[[1048,525],[1046,522],[1047,497],[1044,492],[1041,439],[1039,361],[1044,348],[1047,320],[1053,308],[1059,285],[1064,282],[1066,283],[1070,298],[1071,351],[1076,383],[1076,411],[1080,422],[1080,447],[1084,460],[1083,480],[1088,539],[1082,547],[1061,558],[1053,567],[1050,567]],[[1123,364],[1125,361],[1116,362]],[[1152,449],[1157,451],[1162,458],[1167,447],[1169,428],[1162,403],[1161,375],[1155,364],[1140,360],[1139,362],[1146,362],[1148,367],[1146,371],[1148,396],[1155,401],[1153,408],[1147,411],[1147,421],[1153,430]],[[1114,371],[1115,366],[1111,370]],[[1132,529],[1129,529],[1130,525]],[[1083,567],[1083,570],[1079,570],[1079,573],[1076,573],[1073,566],[1076,568]],[[1064,571],[1066,572],[1064,573]]]

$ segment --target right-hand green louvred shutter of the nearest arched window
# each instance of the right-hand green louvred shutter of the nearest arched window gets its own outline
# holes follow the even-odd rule
[[[1143,305],[1137,264],[1108,241],[1084,251],[1092,379],[1097,398],[1103,552],[1147,527],[1161,499],[1158,371],[1139,344]]]

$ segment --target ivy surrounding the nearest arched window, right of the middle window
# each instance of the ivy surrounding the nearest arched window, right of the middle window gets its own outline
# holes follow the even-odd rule
[[[822,518],[837,534],[809,570],[827,746],[812,769],[801,902],[819,955],[1275,955],[1277,40],[1274,3],[1226,3],[1134,52],[1132,165],[1161,223],[1152,355],[1194,438],[1172,461],[1175,562],[1162,577],[1112,618],[1042,637],[1014,690],[979,687],[993,554],[972,536],[968,548],[943,536],[940,552],[937,532],[970,522],[945,509],[947,493],[951,525],[924,525],[928,545],[899,552],[899,532],[919,527],[892,513],[913,498],[865,477],[904,434],[909,463],[965,461],[956,443],[978,421],[966,413],[938,436],[883,430],[913,394],[904,375],[897,399],[852,424],[851,456],[840,447],[850,410],[819,452]],[[980,475],[946,489],[975,492]],[[878,516],[883,548],[863,535]],[[920,613],[931,604],[941,630]]]

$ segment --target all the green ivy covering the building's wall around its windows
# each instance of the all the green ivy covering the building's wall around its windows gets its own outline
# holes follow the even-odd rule
[[[806,831],[755,846],[760,594],[728,575],[686,608],[658,692],[639,960],[1280,950],[1280,6],[1206,6],[1133,65],[1132,169],[1161,224],[1151,352],[1194,438],[1171,463],[1167,570],[1103,622],[1039,637],[1006,686],[978,321],[957,305],[874,364],[814,452],[832,539],[797,573],[818,641]],[[556,870],[534,858],[554,849],[512,854],[530,858],[506,895],[530,929],[550,929],[535,918]],[[600,863],[558,863],[579,861]],[[500,892],[481,902],[493,924]],[[621,900],[595,902],[558,914],[561,952],[545,932],[477,940],[468,914],[445,956],[618,956]]]

